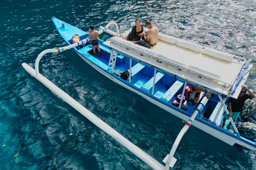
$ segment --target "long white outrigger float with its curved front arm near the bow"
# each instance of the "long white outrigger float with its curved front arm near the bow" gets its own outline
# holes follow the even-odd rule
[[[104,32],[104,31],[102,31]],[[99,31],[99,33],[102,33]],[[86,40],[86,39],[85,39]],[[30,73],[33,77],[35,77],[37,80],[39,80],[41,83],[43,83],[47,88],[49,88],[53,93],[55,93],[57,96],[59,96],[61,99],[63,99],[65,102],[67,102],[70,106],[72,106],[74,109],[76,109],[78,112],[80,112],[84,117],[86,117],[90,122],[92,122],[94,125],[105,131],[107,134],[109,134],[111,137],[116,139],[120,144],[122,144],[125,148],[127,148],[130,152],[132,152],[134,155],[136,155],[138,158],[140,158],[142,161],[144,161],[146,164],[148,164],[151,168],[154,170],[163,170],[164,166],[159,163],[157,160],[155,160],[153,157],[151,157],[149,154],[144,152],[142,149],[140,149],[138,146],[131,143],[129,140],[127,140],[124,136],[122,136],[120,133],[118,133],[116,130],[111,128],[109,125],[107,125],[105,122],[103,122],[101,119],[99,119],[97,116],[95,116],[93,113],[88,111],[86,108],[84,108],[80,103],[75,101],[72,97],[70,97],[67,93],[62,91],[60,88],[58,88],[55,84],[53,84],[50,80],[48,80],[46,77],[41,75],[38,71],[38,64],[40,59],[44,54],[50,53],[50,52],[60,52],[64,51],[66,49],[70,49],[72,47],[78,46],[83,44],[84,42],[89,41],[88,39],[85,41],[82,40],[80,42],[74,43],[72,45],[68,45],[62,48],[57,49],[47,49],[41,52],[35,63],[35,69],[30,67],[27,63],[22,63],[22,66],[24,69]]]

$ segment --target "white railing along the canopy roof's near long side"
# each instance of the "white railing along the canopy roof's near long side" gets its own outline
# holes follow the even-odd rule
[[[150,58],[149,58],[150,60],[153,60],[153,61],[156,61],[156,62],[157,62],[156,65],[155,65],[155,67],[158,67],[158,66],[157,66],[158,64],[162,64],[162,65],[166,66],[166,64],[161,63],[161,61],[162,61],[162,62],[167,63],[167,66],[169,66],[169,65],[174,65],[174,66],[176,66],[176,65],[177,65],[178,67],[177,67],[177,66],[176,66],[176,67],[177,67],[177,70],[178,70],[178,71],[187,72],[187,74],[190,74],[190,75],[192,75],[191,73],[195,73],[196,75],[198,75],[199,78],[201,78],[201,77],[209,77],[209,78],[210,78],[210,83],[212,83],[213,81],[222,82],[222,83],[223,83],[223,88],[226,88],[226,86],[229,87],[229,88],[231,88],[231,86],[232,86],[232,84],[227,83],[227,82],[224,82],[224,81],[222,81],[222,80],[220,80],[220,79],[218,79],[218,78],[212,77],[212,76],[210,76],[210,75],[207,75],[207,74],[202,73],[202,72],[200,72],[200,71],[197,71],[197,70],[188,68],[188,67],[183,66],[183,65],[180,65],[180,64],[178,64],[178,63],[175,63],[175,62],[172,62],[172,61],[168,61],[168,60],[163,59],[163,58],[161,58],[161,57],[159,57],[159,56],[156,56],[156,55],[154,55],[154,54],[150,54],[149,52],[142,51],[142,50],[137,49],[136,47],[131,46],[131,45],[129,45],[129,44],[127,44],[127,43],[124,43],[124,42],[122,42],[122,41],[119,41],[119,40],[116,40],[116,39],[112,39],[112,38],[111,38],[111,43],[113,43],[113,44],[116,44],[116,43],[117,43],[118,45],[120,45],[121,48],[122,48],[122,47],[125,47],[127,50],[129,50],[129,48],[130,48],[130,49],[132,49],[132,50],[134,51],[135,54],[141,53],[140,56],[144,56],[144,55],[149,56],[149,57],[150,57]],[[137,52],[138,52],[138,53],[137,53]],[[139,59],[140,59],[141,61],[146,62],[145,59],[147,59],[147,57],[143,57],[143,58],[142,58],[142,57],[139,57]],[[173,67],[171,67],[171,68],[173,68]],[[185,69],[181,69],[181,68],[185,68]],[[202,79],[202,80],[204,80],[204,79]],[[207,80],[205,80],[205,81],[207,81]]]

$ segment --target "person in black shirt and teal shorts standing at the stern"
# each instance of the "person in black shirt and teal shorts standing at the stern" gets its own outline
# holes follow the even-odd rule
[[[227,109],[229,113],[226,113],[226,112],[225,112],[226,114],[224,113],[223,123],[220,126],[221,128],[224,128],[226,120],[229,119],[230,117],[232,118],[233,121],[236,121],[237,118],[239,117],[240,112],[243,109],[244,102],[247,99],[252,99],[256,97],[255,94],[251,92],[245,85],[242,85],[241,87],[242,89],[237,99],[234,99],[231,97],[228,99]],[[247,91],[249,94],[246,94]],[[230,125],[231,125],[231,122],[227,125],[227,128],[231,129]]]

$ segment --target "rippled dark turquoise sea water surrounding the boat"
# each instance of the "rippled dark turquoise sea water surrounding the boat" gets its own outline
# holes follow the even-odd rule
[[[1,1],[0,169],[151,169],[21,66],[23,62],[34,66],[43,50],[66,45],[51,17],[84,31],[89,31],[91,24],[99,28],[115,21],[120,32],[131,28],[137,18],[143,26],[150,19],[161,33],[233,53],[256,64],[255,6],[253,0]],[[109,38],[100,35],[104,41]],[[41,74],[159,162],[185,125],[114,84],[73,50],[48,54],[39,67]],[[246,82],[254,92],[255,81],[256,76],[250,75]],[[172,169],[251,170],[256,169],[255,154],[192,126],[178,146]]]

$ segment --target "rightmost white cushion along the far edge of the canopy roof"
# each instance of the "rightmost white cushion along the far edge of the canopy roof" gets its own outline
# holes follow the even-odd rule
[[[205,48],[202,51],[202,53],[210,55],[210,56],[215,57],[215,58],[219,58],[221,60],[228,61],[228,62],[231,62],[233,60],[233,55],[232,54],[228,54],[228,53],[225,53],[225,52],[222,52],[222,51],[219,51],[219,50],[216,50],[216,49],[208,48],[208,47]]]

